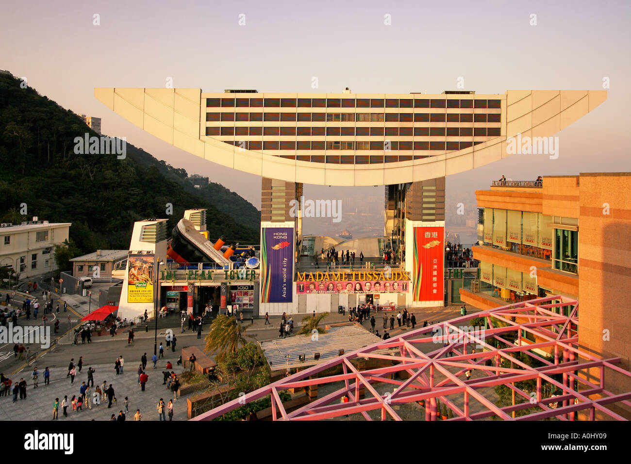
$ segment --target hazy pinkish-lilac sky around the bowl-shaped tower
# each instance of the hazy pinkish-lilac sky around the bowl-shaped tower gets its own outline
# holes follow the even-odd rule
[[[189,174],[209,175],[260,207],[260,178],[214,165],[136,128],[95,87],[256,88],[259,92],[440,93],[456,89],[601,90],[608,100],[564,129],[560,155],[514,155],[447,178],[452,191],[511,179],[631,171],[631,3],[625,1],[22,1],[3,2],[0,69],[42,95],[102,118]],[[93,25],[93,15],[100,25]],[[239,25],[239,15],[245,25]],[[531,14],[537,25],[530,25]],[[384,25],[391,15],[391,25]],[[323,190],[323,189],[326,189]],[[305,186],[312,198],[336,189]],[[330,193],[329,193],[330,192]],[[356,189],[358,197],[373,187]],[[344,190],[343,196],[348,196]],[[470,195],[464,195],[470,196]],[[448,205],[449,207],[449,205]]]

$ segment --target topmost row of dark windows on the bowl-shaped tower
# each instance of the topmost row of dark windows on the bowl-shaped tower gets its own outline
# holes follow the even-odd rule
[[[502,100],[452,98],[206,98],[228,108],[501,108]]]

